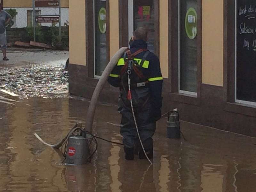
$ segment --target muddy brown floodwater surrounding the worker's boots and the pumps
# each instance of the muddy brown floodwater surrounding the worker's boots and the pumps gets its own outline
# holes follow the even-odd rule
[[[5,95],[6,96],[6,95]],[[61,165],[62,157],[33,133],[56,143],[77,122],[86,122],[88,100],[30,98],[0,103],[0,191],[256,191],[256,139],[181,123],[187,139],[166,138],[166,118],[157,123],[153,165],[124,160],[122,146],[98,140],[92,163]],[[121,142],[115,105],[100,104],[93,133]]]

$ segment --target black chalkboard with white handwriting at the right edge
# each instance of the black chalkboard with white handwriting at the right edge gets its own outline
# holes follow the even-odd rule
[[[256,1],[236,5],[236,99],[256,102]]]

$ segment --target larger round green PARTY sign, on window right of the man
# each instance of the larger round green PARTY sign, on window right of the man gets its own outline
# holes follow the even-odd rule
[[[195,39],[197,34],[197,13],[190,7],[185,18],[185,29],[189,39]]]

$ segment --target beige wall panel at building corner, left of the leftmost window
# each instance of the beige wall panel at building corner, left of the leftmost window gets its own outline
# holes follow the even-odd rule
[[[85,1],[69,0],[69,62],[85,64]]]

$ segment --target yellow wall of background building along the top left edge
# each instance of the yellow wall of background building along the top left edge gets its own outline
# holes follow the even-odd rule
[[[76,1],[76,0],[74,0]],[[68,7],[68,0],[61,0],[61,7]],[[4,0],[4,7],[32,7],[32,0]]]

